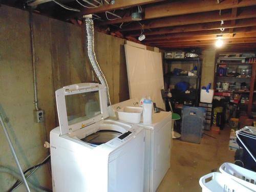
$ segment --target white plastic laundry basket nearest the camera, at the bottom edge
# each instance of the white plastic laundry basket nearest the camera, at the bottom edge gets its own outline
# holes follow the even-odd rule
[[[199,184],[203,192],[252,192],[253,190],[237,183],[221,173],[210,173],[200,178]]]

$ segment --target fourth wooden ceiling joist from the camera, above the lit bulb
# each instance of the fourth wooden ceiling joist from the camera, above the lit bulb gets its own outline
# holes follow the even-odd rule
[[[243,33],[245,36],[245,33],[250,32],[256,32],[256,26],[254,27],[247,27],[247,28],[236,28],[233,31],[234,33]],[[184,33],[171,33],[166,35],[154,35],[154,36],[147,36],[145,41],[151,41],[155,39],[170,39],[170,38],[184,38],[184,37],[190,37],[195,38],[197,36],[208,36],[208,35],[221,35],[221,34],[228,34],[228,30],[220,31],[218,29],[215,30],[207,30],[207,31],[193,31],[193,32],[184,32]],[[237,35],[238,35],[237,34]]]

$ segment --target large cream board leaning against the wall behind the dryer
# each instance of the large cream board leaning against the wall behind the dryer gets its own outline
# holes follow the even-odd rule
[[[158,108],[165,109],[162,55],[155,51],[124,45],[130,98],[150,96]]]

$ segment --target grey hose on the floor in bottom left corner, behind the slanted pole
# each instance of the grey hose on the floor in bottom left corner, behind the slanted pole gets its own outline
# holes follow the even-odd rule
[[[16,179],[22,181],[22,177],[15,170],[12,170],[8,167],[4,167],[4,166],[0,165],[0,173],[9,174],[9,175],[15,177]],[[32,181],[28,181],[28,185],[38,192],[50,192],[51,191],[50,189],[47,189],[45,187],[37,186]]]

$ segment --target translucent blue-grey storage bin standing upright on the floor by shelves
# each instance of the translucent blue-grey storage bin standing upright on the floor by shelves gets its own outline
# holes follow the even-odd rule
[[[205,108],[183,106],[181,122],[181,140],[200,143],[205,120]]]

